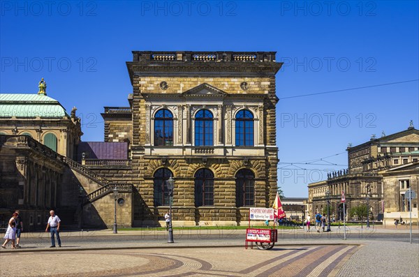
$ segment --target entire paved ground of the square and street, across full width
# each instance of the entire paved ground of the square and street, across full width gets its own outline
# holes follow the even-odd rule
[[[0,250],[0,276],[417,276],[417,230],[413,244],[405,230],[351,230],[346,241],[338,230],[286,231],[272,250],[244,249],[243,230],[177,230],[175,244],[164,231],[62,232],[62,248],[48,248],[46,233],[27,233],[22,249]]]

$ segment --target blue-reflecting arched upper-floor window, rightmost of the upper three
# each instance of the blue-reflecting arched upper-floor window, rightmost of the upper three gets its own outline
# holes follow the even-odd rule
[[[237,147],[253,147],[253,114],[248,110],[237,112],[235,133]]]

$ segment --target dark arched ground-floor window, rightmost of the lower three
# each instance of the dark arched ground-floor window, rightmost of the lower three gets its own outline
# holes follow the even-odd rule
[[[255,204],[255,175],[251,170],[239,170],[236,174],[236,206]]]

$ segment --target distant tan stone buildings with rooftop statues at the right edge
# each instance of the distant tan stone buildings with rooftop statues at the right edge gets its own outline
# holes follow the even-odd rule
[[[374,218],[407,218],[409,201],[406,190],[418,191],[419,131],[413,123],[407,130],[376,138],[356,147],[348,146],[348,170],[328,174],[328,180],[309,184],[309,213],[326,207],[332,216],[343,220],[341,192],[345,191],[346,209],[369,202]],[[414,220],[418,220],[418,197],[412,200]]]

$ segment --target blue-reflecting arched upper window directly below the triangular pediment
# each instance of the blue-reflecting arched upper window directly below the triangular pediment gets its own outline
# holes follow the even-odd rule
[[[195,145],[214,145],[214,121],[209,110],[200,110],[195,116]]]

